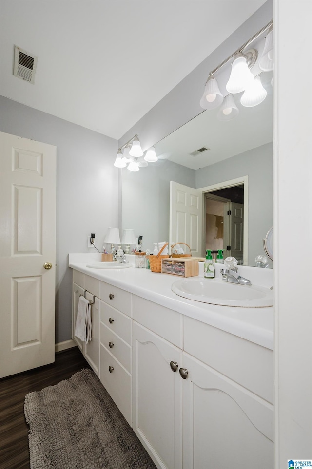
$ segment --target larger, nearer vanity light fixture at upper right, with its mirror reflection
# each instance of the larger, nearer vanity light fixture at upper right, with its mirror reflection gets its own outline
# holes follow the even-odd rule
[[[257,62],[258,51],[256,49],[246,50],[257,38],[262,36],[266,31],[266,41],[263,53],[259,60],[259,68],[261,71],[273,70],[273,20],[258,31],[251,39],[237,49],[231,56],[225,59],[212,72],[205,83],[204,94],[200,99],[200,106],[203,109],[215,109],[220,107],[217,117],[220,120],[230,120],[238,114],[238,108],[234,103],[233,93],[242,93],[241,104],[246,107],[257,106],[266,97],[267,92],[261,84],[260,76],[254,78],[251,72],[252,67]],[[220,92],[215,74],[230,60],[233,60],[231,74],[226,84],[226,92],[224,97]]]

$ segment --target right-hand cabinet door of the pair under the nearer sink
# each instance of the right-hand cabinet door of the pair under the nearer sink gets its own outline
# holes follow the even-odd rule
[[[185,469],[273,468],[273,405],[183,353]]]

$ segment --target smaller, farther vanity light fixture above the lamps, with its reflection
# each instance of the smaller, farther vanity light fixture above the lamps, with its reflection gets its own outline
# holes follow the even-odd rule
[[[144,152],[141,149],[140,141],[138,136],[135,135],[118,149],[114,166],[117,168],[127,167],[129,171],[139,171],[140,168],[145,168],[149,163],[158,160],[154,147],[149,148],[144,157],[143,155]]]

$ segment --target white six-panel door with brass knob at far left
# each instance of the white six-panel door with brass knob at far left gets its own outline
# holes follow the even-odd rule
[[[0,377],[52,363],[56,147],[0,132]]]

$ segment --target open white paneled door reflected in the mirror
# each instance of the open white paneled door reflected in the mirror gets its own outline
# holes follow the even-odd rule
[[[195,257],[203,256],[202,198],[201,190],[170,181],[169,245],[186,243]]]

